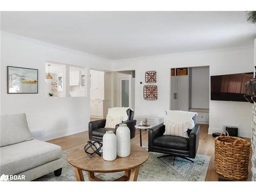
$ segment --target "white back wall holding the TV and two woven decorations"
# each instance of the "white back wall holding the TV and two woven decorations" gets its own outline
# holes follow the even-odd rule
[[[114,71],[135,70],[135,115],[164,116],[169,109],[169,69],[210,66],[210,75],[253,71],[253,47],[169,54],[123,59],[112,62]],[[158,99],[143,99],[144,73],[157,71]],[[140,84],[139,82],[143,83]],[[220,132],[223,125],[237,125],[242,136],[251,136],[251,104],[247,102],[209,101],[209,133]]]

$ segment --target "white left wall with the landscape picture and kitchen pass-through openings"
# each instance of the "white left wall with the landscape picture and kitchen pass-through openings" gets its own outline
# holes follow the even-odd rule
[[[43,140],[88,130],[90,98],[47,98],[45,62],[104,70],[110,66],[109,60],[6,32],[1,32],[1,47],[2,114],[25,112],[32,132],[44,129]],[[38,94],[7,94],[6,66],[38,69]]]

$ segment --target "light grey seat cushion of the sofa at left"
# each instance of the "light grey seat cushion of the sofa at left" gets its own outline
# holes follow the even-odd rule
[[[15,175],[60,158],[62,150],[58,145],[33,139],[3,146],[0,154],[0,174]]]

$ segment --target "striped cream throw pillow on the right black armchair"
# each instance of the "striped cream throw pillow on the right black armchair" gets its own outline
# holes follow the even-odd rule
[[[188,137],[187,129],[188,129],[188,122],[176,124],[170,121],[166,121],[164,135]]]

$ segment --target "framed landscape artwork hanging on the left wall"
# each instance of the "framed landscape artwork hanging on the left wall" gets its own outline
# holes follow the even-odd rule
[[[7,66],[7,93],[38,93],[38,70]]]

